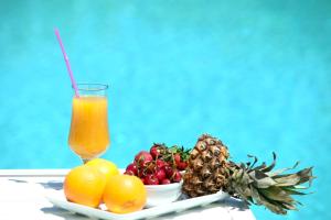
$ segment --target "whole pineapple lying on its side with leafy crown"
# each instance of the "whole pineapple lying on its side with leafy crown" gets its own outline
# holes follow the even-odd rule
[[[297,204],[291,196],[305,195],[301,184],[312,179],[312,167],[295,174],[282,174],[291,168],[271,172],[276,164],[267,166],[263,163],[235,164],[228,161],[227,147],[217,139],[203,134],[196,142],[189,157],[189,166],[184,174],[183,193],[190,197],[204,196],[223,190],[245,200],[248,205],[263,205],[275,213],[286,215],[287,210],[296,210]],[[292,167],[295,168],[298,163]]]

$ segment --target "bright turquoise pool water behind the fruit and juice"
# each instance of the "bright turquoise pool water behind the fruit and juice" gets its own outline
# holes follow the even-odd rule
[[[300,211],[257,219],[330,219],[331,2],[0,1],[0,168],[70,168],[72,90],[53,28],[77,81],[107,82],[119,166],[153,142],[222,139],[233,160],[318,176]]]

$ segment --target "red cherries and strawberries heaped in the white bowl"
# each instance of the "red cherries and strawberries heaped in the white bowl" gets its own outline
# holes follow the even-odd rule
[[[141,151],[125,174],[138,176],[145,185],[166,185],[180,183],[182,174],[188,167],[190,151],[180,146],[168,147],[154,143],[150,151]]]

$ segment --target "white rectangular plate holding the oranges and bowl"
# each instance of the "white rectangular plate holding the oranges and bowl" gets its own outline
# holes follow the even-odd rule
[[[102,206],[100,209],[95,209],[78,204],[70,202],[65,199],[63,190],[50,190],[46,195],[46,198],[56,207],[66,209],[74,213],[81,213],[90,218],[106,219],[106,220],[115,220],[115,219],[136,220],[136,219],[151,218],[151,217],[157,217],[173,211],[183,211],[197,206],[205,206],[214,201],[223,200],[227,197],[228,194],[218,191],[217,194],[196,197],[196,198],[190,198],[190,199],[181,198],[181,200],[171,204],[147,208],[131,213],[119,215],[119,213],[106,211],[105,206]]]

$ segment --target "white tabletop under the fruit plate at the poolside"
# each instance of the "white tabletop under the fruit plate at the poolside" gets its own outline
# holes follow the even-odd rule
[[[68,169],[0,169],[0,219],[88,220],[53,207],[44,195],[61,189]],[[236,199],[214,202],[181,213],[170,213],[156,219],[192,220],[254,220],[247,206]]]

